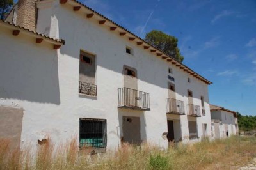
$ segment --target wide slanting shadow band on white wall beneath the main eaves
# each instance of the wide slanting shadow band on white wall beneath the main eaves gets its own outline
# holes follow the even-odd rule
[[[58,16],[56,17],[58,17],[58,24],[61,28],[59,29],[59,35],[60,38],[66,40],[65,45],[60,49],[60,53],[76,58],[77,67],[79,66],[80,49],[83,49],[97,55],[97,66],[120,74],[122,74],[124,65],[131,66],[137,69],[138,79],[141,81],[164,89],[168,88],[168,70],[159,70],[159,67],[163,66],[162,59],[152,56],[150,51],[145,51],[141,47],[138,47],[140,50],[136,50],[134,56],[130,54],[130,56],[127,56],[125,53],[125,43],[129,44],[129,42],[124,43],[124,38],[120,38],[115,31],[109,32],[107,27],[99,27],[98,22],[93,23],[94,21],[91,22],[84,19],[84,15],[78,15],[72,12],[67,6],[61,6],[58,10]],[[72,32],[68,29],[70,26],[72,26]],[[138,56],[140,57],[138,58]],[[175,84],[186,83],[186,81],[187,79],[184,78],[184,82],[175,81]],[[141,88],[138,90],[143,91]],[[183,97],[188,95],[187,91],[183,89],[179,90],[179,88],[177,88],[176,93],[179,93]],[[199,94],[193,97],[200,100]],[[207,97],[205,97],[205,102],[208,102]]]

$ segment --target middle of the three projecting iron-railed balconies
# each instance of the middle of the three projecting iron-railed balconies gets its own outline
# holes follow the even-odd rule
[[[184,102],[174,98],[166,99],[166,109],[168,114],[185,114]]]

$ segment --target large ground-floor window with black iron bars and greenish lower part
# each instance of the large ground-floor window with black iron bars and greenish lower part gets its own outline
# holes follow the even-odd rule
[[[107,144],[107,127],[103,119],[80,118],[80,148],[105,148]]]

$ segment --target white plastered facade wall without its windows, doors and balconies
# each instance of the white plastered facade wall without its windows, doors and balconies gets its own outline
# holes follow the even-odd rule
[[[72,137],[78,142],[79,118],[107,120],[107,148],[115,148],[120,143],[123,116],[140,117],[141,140],[163,147],[168,146],[168,141],[162,137],[168,132],[167,120],[178,120],[175,127],[180,125],[181,130],[175,132],[176,141],[179,136],[182,141],[189,141],[189,120],[196,121],[198,132],[198,139],[192,141],[201,139],[203,124],[207,124],[205,135],[211,135],[205,82],[118,32],[109,31],[108,26],[100,26],[97,17],[87,19],[83,10],[74,12],[70,4],[38,2],[37,23],[38,33],[62,38],[65,45],[54,50],[47,43],[38,45],[33,38],[12,36],[10,30],[0,28],[0,106],[24,109],[22,144],[36,144],[45,135],[50,135],[55,143]],[[127,46],[132,48],[133,55],[125,52]],[[78,93],[80,50],[96,56],[97,97]],[[124,65],[136,68],[138,90],[150,94],[150,111],[118,108],[117,89],[124,87]],[[168,73],[168,68],[172,68],[172,74]],[[168,80],[168,75],[175,81]],[[166,114],[168,81],[175,84],[176,99],[184,101],[185,115]],[[204,97],[205,116],[187,116],[188,89],[193,91],[193,104],[199,105],[200,110],[200,97]],[[229,119],[227,121],[232,121]]]

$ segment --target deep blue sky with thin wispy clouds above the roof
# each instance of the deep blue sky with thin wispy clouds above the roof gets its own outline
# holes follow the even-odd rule
[[[256,116],[256,1],[81,0],[141,38],[179,39],[184,64],[212,81],[211,104]]]

